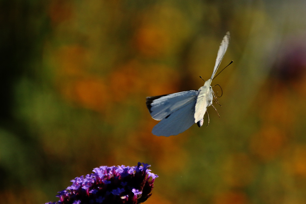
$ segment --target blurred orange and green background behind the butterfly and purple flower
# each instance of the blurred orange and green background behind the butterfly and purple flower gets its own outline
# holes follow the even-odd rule
[[[0,203],[56,201],[76,176],[138,161],[159,175],[148,204],[306,203],[305,12],[305,1],[2,0]],[[208,127],[152,135],[145,98],[203,86],[227,31],[220,118],[209,107]]]

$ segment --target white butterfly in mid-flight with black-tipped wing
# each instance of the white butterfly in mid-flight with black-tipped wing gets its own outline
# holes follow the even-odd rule
[[[196,123],[203,125],[203,117],[208,106],[212,105],[215,94],[211,88],[217,69],[230,42],[230,32],[224,36],[219,47],[214,71],[199,90],[182,91],[174,94],[151,96],[146,98],[151,117],[160,121],[152,129],[157,136],[177,135]]]

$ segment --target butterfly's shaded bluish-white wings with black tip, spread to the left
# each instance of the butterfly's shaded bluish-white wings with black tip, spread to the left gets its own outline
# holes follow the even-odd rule
[[[177,135],[194,124],[197,90],[147,97],[147,107],[155,120],[161,120],[152,129],[157,136]],[[159,98],[158,98],[159,97]]]

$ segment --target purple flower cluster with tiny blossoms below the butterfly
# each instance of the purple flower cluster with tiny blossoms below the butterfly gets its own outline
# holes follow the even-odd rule
[[[140,162],[132,167],[100,166],[94,173],[71,180],[71,186],[58,192],[59,201],[46,204],[142,203],[151,196],[158,177],[149,166]]]

